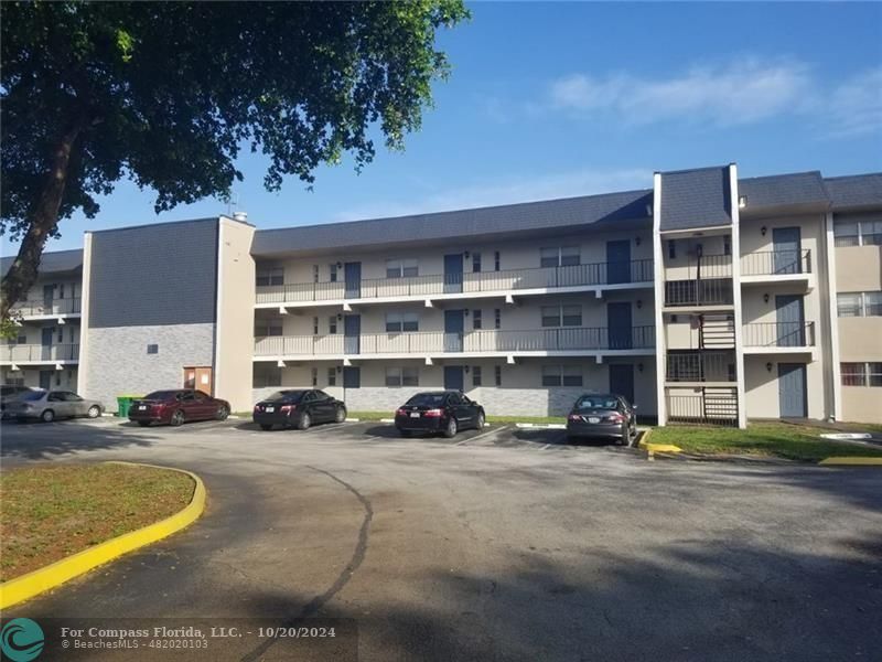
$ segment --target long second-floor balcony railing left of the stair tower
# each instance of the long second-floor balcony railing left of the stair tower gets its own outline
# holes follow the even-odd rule
[[[271,335],[255,341],[256,356],[341,354],[440,354],[453,352],[566,352],[655,348],[655,327],[607,329],[562,327],[528,331],[486,329],[363,333],[361,335]]]

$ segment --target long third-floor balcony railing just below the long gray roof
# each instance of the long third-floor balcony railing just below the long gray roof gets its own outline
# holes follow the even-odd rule
[[[404,278],[368,278],[357,282],[295,282],[257,288],[258,303],[377,299],[380,297],[426,297],[445,293],[476,293],[540,288],[648,282],[653,260],[595,263],[569,267],[541,267],[507,271],[469,271]]]

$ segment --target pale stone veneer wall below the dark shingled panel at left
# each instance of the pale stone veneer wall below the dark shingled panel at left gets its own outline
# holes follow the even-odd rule
[[[181,388],[185,366],[213,365],[214,324],[89,329],[85,397],[117,410],[118,395]],[[159,353],[148,354],[147,345]]]

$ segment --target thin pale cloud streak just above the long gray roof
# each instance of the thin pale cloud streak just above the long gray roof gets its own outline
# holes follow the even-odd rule
[[[439,191],[415,201],[375,202],[346,210],[336,221],[357,221],[385,216],[405,216],[428,212],[463,210],[536,200],[553,200],[576,195],[592,195],[631,189],[650,189],[649,169],[577,170],[539,177],[520,177],[485,185],[463,186]]]

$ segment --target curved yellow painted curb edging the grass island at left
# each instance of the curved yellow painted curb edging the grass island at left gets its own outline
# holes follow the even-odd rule
[[[195,522],[205,510],[205,485],[202,479],[195,473],[175,469],[173,467],[158,467],[155,465],[141,465],[138,462],[109,462],[111,465],[132,465],[136,467],[151,467],[153,469],[166,469],[186,473],[196,483],[193,490],[193,499],[182,511],[165,517],[155,524],[150,524],[143,528],[131,531],[123,535],[110,538],[99,545],[78,552],[67,558],[62,558],[44,568],[28,573],[21,577],[10,579],[0,584],[0,609],[7,609],[28,600],[36,595],[45,592],[65,581],[78,577],[88,570],[112,560],[123,554],[138,549],[150,543],[155,543],[172,533],[181,531]]]

